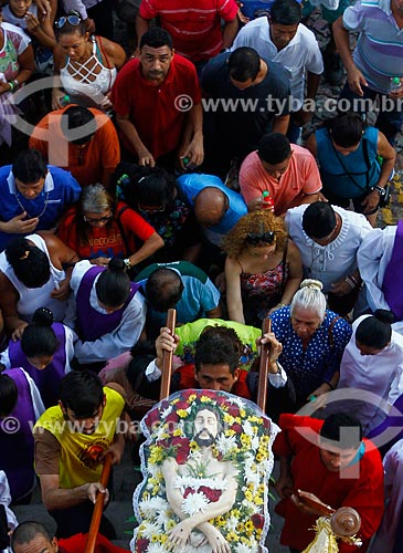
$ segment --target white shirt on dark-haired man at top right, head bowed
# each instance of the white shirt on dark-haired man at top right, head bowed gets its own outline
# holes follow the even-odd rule
[[[277,50],[271,38],[268,19],[257,18],[241,29],[231,50],[234,51],[240,46],[253,48],[261,58],[283,65],[289,79],[294,100],[293,111],[298,111],[304,102],[306,72],[320,75],[324,71],[318,41],[312,31],[301,23],[289,44],[283,50]],[[295,102],[296,100],[298,102]]]

